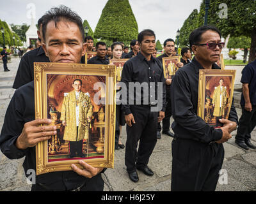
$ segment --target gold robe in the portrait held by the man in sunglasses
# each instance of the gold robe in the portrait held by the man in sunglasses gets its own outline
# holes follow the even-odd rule
[[[213,116],[221,117],[225,114],[225,108],[227,103],[227,87],[215,87],[212,98],[212,104],[214,104]]]

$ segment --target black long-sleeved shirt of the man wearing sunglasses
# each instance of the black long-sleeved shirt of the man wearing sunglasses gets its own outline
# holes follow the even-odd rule
[[[178,138],[209,143],[220,140],[222,130],[209,126],[197,116],[199,69],[204,68],[194,57],[191,63],[175,73],[171,85],[172,115],[174,119],[172,129]],[[220,69],[220,67],[214,63],[212,69]],[[238,124],[233,101],[228,120]]]

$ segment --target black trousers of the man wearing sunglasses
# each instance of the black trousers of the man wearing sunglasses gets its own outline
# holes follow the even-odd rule
[[[224,159],[222,144],[175,138],[172,142],[172,191],[214,191]]]

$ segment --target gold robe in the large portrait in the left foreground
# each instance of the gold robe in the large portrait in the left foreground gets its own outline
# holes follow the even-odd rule
[[[76,105],[79,106],[79,126],[77,135]],[[87,117],[91,118],[93,106],[88,93],[80,92],[76,99],[76,91],[67,93],[63,99],[60,120],[66,120],[67,126],[64,131],[64,140],[79,141],[88,139],[89,123]]]

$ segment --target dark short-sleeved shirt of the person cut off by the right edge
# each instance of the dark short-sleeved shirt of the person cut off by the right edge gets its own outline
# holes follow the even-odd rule
[[[252,105],[256,105],[256,60],[247,64],[242,71],[241,83],[249,84],[249,96]],[[242,92],[241,106],[245,105]]]

